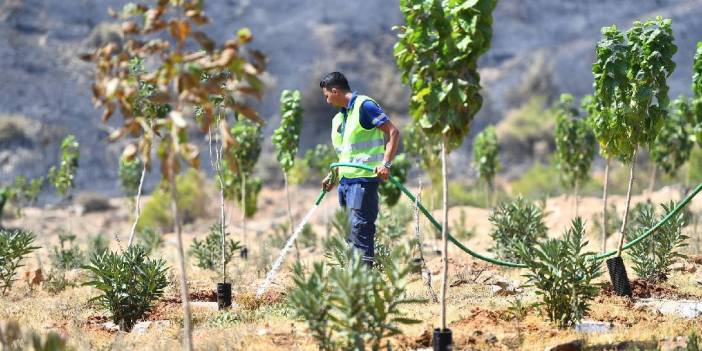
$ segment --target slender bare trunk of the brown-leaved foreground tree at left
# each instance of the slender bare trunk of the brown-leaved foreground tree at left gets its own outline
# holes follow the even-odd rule
[[[183,235],[180,227],[180,214],[178,212],[178,191],[175,181],[175,155],[170,155],[170,171],[168,180],[171,184],[171,211],[173,213],[173,226],[178,240],[178,264],[180,265],[180,295],[183,301],[183,349],[193,350],[193,331],[190,325],[190,301],[188,297],[188,275],[185,271],[185,255],[183,254]]]

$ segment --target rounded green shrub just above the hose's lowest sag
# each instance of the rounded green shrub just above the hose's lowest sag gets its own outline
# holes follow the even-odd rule
[[[527,244],[529,250],[539,240],[546,238],[545,213],[543,208],[519,196],[513,202],[503,202],[490,214],[494,242],[491,252],[506,260],[517,260],[519,243]]]

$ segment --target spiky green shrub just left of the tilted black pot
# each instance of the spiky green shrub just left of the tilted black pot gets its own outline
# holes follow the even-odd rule
[[[527,265],[524,275],[541,296],[548,318],[559,328],[572,327],[587,315],[590,301],[597,296],[593,280],[602,272],[601,262],[587,245],[580,217],[573,220],[562,239],[543,243],[519,242],[517,252]]]

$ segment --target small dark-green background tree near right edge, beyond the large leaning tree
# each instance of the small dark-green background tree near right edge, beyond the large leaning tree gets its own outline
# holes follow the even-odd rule
[[[650,145],[653,170],[649,192],[652,192],[655,187],[658,168],[663,169],[666,174],[674,174],[690,158],[694,146],[690,135],[693,117],[685,97],[681,96],[673,100],[663,128]]]

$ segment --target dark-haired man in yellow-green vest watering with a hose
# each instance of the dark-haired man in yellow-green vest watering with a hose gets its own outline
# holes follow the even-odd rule
[[[348,210],[351,233],[347,242],[372,265],[375,254],[375,220],[378,217],[378,184],[390,176],[400,131],[368,96],[352,92],[343,74],[332,72],[319,83],[327,103],[339,108],[332,119],[331,139],[339,162],[364,164],[367,171],[339,167],[322,181],[326,191],[339,180],[339,204]]]

